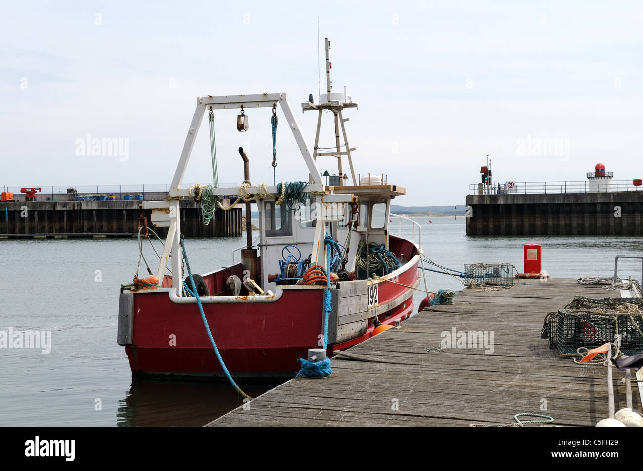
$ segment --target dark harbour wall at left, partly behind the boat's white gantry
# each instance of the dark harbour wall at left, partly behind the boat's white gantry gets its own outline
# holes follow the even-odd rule
[[[132,237],[138,234],[140,200],[0,202],[0,238]],[[203,225],[201,203],[181,200],[181,232],[186,237],[242,235],[242,209],[217,209]],[[155,227],[151,209],[144,209],[148,227],[161,237],[167,227]]]

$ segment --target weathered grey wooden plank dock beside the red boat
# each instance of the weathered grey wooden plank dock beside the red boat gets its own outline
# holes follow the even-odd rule
[[[335,357],[331,377],[294,378],[207,425],[468,426],[512,423],[516,413],[538,413],[554,417],[553,425],[593,426],[608,416],[607,368],[560,359],[540,338],[545,314],[564,308],[575,294],[619,296],[572,279],[467,289],[455,305],[433,307],[350,348],[354,358]],[[442,332],[454,328],[493,332],[493,353],[434,351]],[[613,374],[618,411],[626,407],[625,375],[617,369]],[[632,390],[640,410],[635,382]]]

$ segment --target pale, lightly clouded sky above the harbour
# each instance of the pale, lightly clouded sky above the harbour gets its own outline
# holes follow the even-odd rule
[[[642,20],[637,1],[12,2],[0,185],[169,183],[208,94],[287,93],[312,149],[317,114],[300,103],[318,95],[318,40],[325,80],[324,37],[333,91],[359,105],[344,112],[356,173],[406,188],[395,204],[463,204],[487,155],[494,182],[584,181],[598,162],[642,178]],[[219,181],[243,180],[242,146],[253,184],[271,184],[270,109],[247,114],[246,133],[237,111],[215,115]],[[207,122],[185,183],[212,182]],[[307,180],[284,123],[276,180]],[[87,136],[127,153],[78,155]],[[332,145],[327,114],[320,147]],[[318,166],[337,170],[334,157]]]

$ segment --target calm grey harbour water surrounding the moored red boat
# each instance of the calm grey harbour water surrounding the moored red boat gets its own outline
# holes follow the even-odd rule
[[[554,277],[607,276],[616,254],[643,252],[643,240],[634,237],[468,238],[462,218],[431,220],[418,219],[425,253],[458,270],[509,262],[522,271],[522,245],[529,242],[543,245],[543,267]],[[231,249],[243,244],[244,238],[188,240],[193,271],[229,264]],[[227,384],[132,379],[116,326],[119,285],[131,281],[138,263],[136,240],[4,240],[0,260],[0,330],[52,335],[48,355],[0,350],[0,425],[203,425],[241,404]],[[619,274],[640,278],[640,263],[622,262]],[[462,287],[435,273],[427,281],[432,290]],[[273,385],[242,387],[258,395]]]

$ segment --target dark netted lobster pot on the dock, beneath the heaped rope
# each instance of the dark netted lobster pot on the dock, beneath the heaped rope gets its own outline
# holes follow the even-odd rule
[[[592,350],[607,342],[615,342],[620,335],[620,351],[624,355],[643,353],[643,319],[640,315],[594,314],[559,310],[556,338],[561,353],[576,353],[580,347]]]

